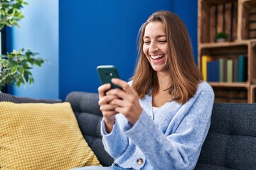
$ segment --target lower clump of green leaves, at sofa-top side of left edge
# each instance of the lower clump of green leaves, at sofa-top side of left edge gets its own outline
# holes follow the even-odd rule
[[[0,56],[0,90],[2,87],[9,84],[14,86],[20,86],[21,84],[32,84],[34,79],[32,77],[31,69],[34,64],[41,67],[41,64],[45,62],[42,58],[36,58],[35,55],[38,53],[31,52],[24,49],[16,52],[9,53],[7,55]]]

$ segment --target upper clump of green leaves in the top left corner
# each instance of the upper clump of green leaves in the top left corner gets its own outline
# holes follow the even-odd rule
[[[17,26],[23,16],[23,5],[28,3],[24,0],[1,0],[0,3],[0,30],[4,26]]]

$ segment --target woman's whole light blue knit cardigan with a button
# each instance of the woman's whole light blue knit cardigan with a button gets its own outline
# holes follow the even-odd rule
[[[134,125],[118,114],[107,134],[102,121],[103,144],[114,164],[145,170],[194,169],[210,127],[213,89],[202,81],[186,103],[170,101],[154,113],[151,100],[146,95],[139,101],[143,111]]]

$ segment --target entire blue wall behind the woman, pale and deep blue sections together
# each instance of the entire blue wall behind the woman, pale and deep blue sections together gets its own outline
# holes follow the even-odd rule
[[[197,0],[28,2],[21,28],[12,31],[13,46],[31,47],[51,64],[35,68],[35,84],[15,89],[18,96],[65,99],[70,91],[97,92],[100,64],[114,64],[128,80],[137,60],[139,27],[158,10],[181,16],[197,56]]]

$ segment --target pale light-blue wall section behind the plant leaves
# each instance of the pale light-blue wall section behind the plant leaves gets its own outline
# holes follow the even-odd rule
[[[58,0],[26,1],[29,4],[23,8],[25,18],[19,22],[20,28],[11,28],[7,50],[31,48],[48,62],[33,67],[34,84],[11,88],[9,92],[16,96],[59,98]]]

